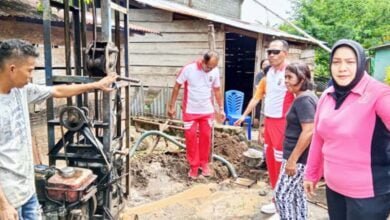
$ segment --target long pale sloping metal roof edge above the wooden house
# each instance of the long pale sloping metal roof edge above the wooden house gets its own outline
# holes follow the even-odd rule
[[[283,37],[283,38],[288,38],[288,39],[304,41],[304,42],[309,42],[309,43],[315,44],[314,41],[312,41],[308,38],[305,38],[305,37],[300,37],[300,36],[288,34],[286,32],[283,32],[283,31],[280,31],[280,30],[277,30],[274,28],[265,27],[262,25],[255,25],[255,24],[251,24],[251,23],[248,23],[245,21],[235,20],[232,18],[227,18],[227,17],[223,17],[220,15],[200,11],[200,10],[189,8],[187,6],[180,5],[180,4],[174,3],[174,2],[169,2],[169,1],[164,1],[164,0],[135,0],[135,1],[138,3],[141,3],[141,4],[149,5],[153,8],[158,8],[161,10],[166,10],[166,11],[170,11],[170,12],[174,12],[174,13],[178,13],[178,14],[193,16],[193,17],[197,17],[197,18],[229,25],[229,26],[232,26],[235,28],[240,28],[240,29],[247,30],[247,31],[252,31],[252,32],[256,32],[256,33],[262,33],[262,34],[266,34],[266,35]]]

